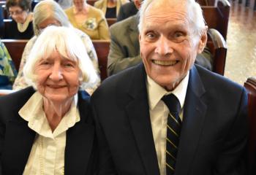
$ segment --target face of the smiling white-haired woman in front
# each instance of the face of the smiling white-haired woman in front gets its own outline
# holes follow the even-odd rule
[[[78,63],[64,58],[58,51],[53,51],[49,58],[39,60],[35,65],[35,74],[37,90],[48,101],[65,103],[78,93]]]

